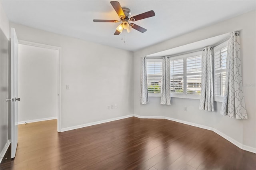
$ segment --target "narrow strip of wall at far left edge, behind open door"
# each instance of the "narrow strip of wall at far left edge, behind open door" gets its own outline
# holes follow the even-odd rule
[[[9,21],[0,4],[0,157],[3,157],[8,144],[8,42]],[[1,162],[0,158],[0,162]]]

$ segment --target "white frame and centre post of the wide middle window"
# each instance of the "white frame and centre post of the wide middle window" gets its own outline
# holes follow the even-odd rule
[[[187,93],[187,58],[189,57],[195,57],[201,55],[202,56],[202,50],[196,51],[192,53],[177,55],[174,57],[170,57],[170,60],[176,60],[176,59],[182,59],[183,58],[183,93],[171,93],[171,97],[177,97],[177,98],[185,98],[185,99],[200,99],[201,95],[197,94],[186,94]],[[191,75],[191,73],[189,73]],[[189,75],[188,74],[188,75]],[[202,75],[202,72],[200,73]],[[172,77],[172,75],[170,75]],[[185,93],[184,93],[185,92]]]

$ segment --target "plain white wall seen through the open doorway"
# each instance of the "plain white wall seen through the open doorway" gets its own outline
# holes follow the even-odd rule
[[[19,44],[19,123],[58,115],[58,50]]]

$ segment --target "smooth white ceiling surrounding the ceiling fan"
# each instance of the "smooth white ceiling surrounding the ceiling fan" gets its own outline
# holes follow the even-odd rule
[[[154,10],[156,16],[134,22],[145,33],[132,29],[114,36],[119,23],[94,23],[93,19],[119,20],[110,0],[1,0],[10,22],[137,51],[256,9],[255,0],[125,0],[131,16]]]

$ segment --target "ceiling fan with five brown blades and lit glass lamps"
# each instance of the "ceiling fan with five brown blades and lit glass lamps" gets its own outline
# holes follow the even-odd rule
[[[146,32],[145,28],[142,28],[141,26],[138,26],[133,23],[129,23],[129,21],[138,21],[145,18],[149,18],[152,16],[155,16],[155,12],[153,10],[144,12],[142,14],[138,14],[136,16],[131,16],[131,10],[129,8],[121,7],[120,3],[118,1],[111,1],[110,4],[113,6],[114,10],[116,10],[116,13],[118,14],[120,21],[118,20],[93,20],[93,22],[122,22],[117,28],[114,35],[119,35],[123,29],[127,30],[127,32],[130,32],[130,28],[133,28],[139,32]]]

